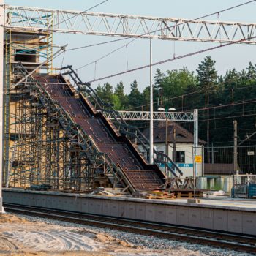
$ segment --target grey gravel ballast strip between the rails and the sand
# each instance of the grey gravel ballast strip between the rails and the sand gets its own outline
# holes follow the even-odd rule
[[[200,244],[189,244],[187,242],[181,242],[176,240],[170,240],[166,238],[157,238],[156,236],[143,236],[140,234],[134,234],[124,232],[120,230],[112,230],[101,227],[94,227],[91,225],[80,225],[70,222],[62,222],[52,219],[42,219],[39,217],[28,217],[20,214],[15,214],[18,217],[23,217],[30,222],[42,222],[48,225],[59,225],[60,227],[72,227],[71,232],[78,233],[79,235],[85,233],[97,233],[105,234],[116,238],[120,241],[124,241],[125,244],[130,245],[129,252],[110,252],[111,255],[130,256],[130,255],[228,255],[228,256],[245,256],[250,255],[243,252],[236,252],[228,249],[215,248],[212,246],[203,246]],[[127,247],[128,248],[128,247]],[[138,252],[136,252],[138,249]],[[142,252],[143,251],[143,252]]]

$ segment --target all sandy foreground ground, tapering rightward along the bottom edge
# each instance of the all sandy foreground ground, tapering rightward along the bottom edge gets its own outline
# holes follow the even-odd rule
[[[124,236],[129,236],[124,234]],[[153,237],[146,239],[149,243],[154,243]],[[208,252],[207,249],[206,252]],[[107,233],[91,230],[86,226],[63,226],[56,222],[49,224],[38,220],[29,221],[11,214],[2,214],[0,215],[0,255],[204,256],[222,254],[205,254],[197,249],[186,249],[184,246],[173,246],[168,249],[159,249],[157,246],[157,249],[146,249],[146,247],[135,246],[109,236]]]

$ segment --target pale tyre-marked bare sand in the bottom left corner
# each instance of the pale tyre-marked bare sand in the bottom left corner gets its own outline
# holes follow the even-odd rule
[[[137,249],[132,247],[84,228],[29,222],[10,214],[0,216],[0,255],[108,255],[116,250]]]

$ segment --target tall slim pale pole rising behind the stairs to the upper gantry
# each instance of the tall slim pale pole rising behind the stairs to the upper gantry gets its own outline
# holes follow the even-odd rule
[[[154,163],[154,141],[153,141],[153,83],[152,83],[152,42],[150,39],[150,132],[149,132],[149,163]]]

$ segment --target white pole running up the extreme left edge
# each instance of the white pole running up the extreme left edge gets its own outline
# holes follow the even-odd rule
[[[3,149],[4,149],[4,0],[0,0],[0,213],[4,212],[2,200]]]

